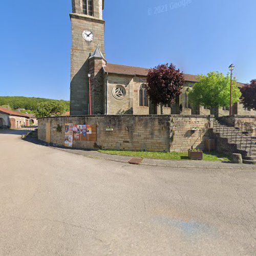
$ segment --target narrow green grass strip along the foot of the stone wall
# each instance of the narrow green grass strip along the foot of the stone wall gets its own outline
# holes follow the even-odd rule
[[[120,156],[132,156],[141,158],[156,158],[167,160],[189,160],[187,152],[144,152],[144,151],[118,151],[118,150],[99,150],[100,153],[114,154]],[[223,156],[217,152],[210,152],[203,154],[205,161],[229,161],[228,157]]]

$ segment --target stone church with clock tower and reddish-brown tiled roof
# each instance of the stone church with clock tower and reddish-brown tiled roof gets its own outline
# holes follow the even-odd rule
[[[160,114],[160,106],[148,99],[145,82],[148,69],[116,65],[104,52],[104,0],[72,0],[70,114],[148,115]],[[157,66],[158,63],[156,63]],[[183,74],[184,87],[175,104],[164,106],[164,114],[209,115],[201,106],[190,106],[187,93],[198,82],[196,75]],[[239,83],[242,87],[244,84]],[[238,103],[232,113],[255,115]],[[228,115],[229,109],[219,109]]]

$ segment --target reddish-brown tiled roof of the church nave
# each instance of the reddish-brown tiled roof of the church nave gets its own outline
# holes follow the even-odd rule
[[[119,74],[119,75],[138,75],[138,76],[146,76],[148,69],[140,68],[140,67],[132,67],[132,66],[124,66],[108,63],[103,67],[106,73],[111,74]],[[188,82],[198,82],[197,75],[183,74],[185,81]],[[245,84],[238,82],[239,87],[243,87]]]

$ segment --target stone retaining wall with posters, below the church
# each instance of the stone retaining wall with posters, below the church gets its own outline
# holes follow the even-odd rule
[[[74,140],[73,147],[168,152],[187,151],[194,145],[203,150],[204,139],[213,120],[210,116],[181,115],[49,117],[38,119],[38,139],[46,141],[46,127],[49,124],[50,142],[63,146],[66,123],[96,124],[96,141]],[[106,131],[107,126],[113,127],[113,131]],[[198,130],[192,131],[193,128]]]

